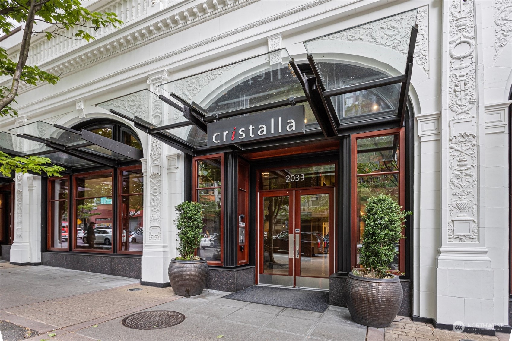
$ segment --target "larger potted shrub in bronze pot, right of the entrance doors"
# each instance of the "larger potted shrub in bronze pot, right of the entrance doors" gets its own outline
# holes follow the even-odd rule
[[[368,199],[360,249],[360,265],[349,273],[343,295],[355,322],[375,328],[393,322],[402,303],[400,279],[392,274],[389,265],[398,253],[396,244],[403,238],[403,223],[412,212],[388,195]]]

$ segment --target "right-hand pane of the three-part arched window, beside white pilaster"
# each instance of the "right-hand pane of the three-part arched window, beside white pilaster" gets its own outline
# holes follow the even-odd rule
[[[142,252],[144,242],[144,181],[140,167],[120,171],[120,251]]]

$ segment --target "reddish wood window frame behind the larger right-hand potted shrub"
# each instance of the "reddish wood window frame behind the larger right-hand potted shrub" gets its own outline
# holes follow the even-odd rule
[[[402,128],[394,128],[387,130],[380,130],[368,133],[361,134],[353,134],[351,136],[351,154],[352,154],[352,190],[351,190],[351,266],[357,266],[357,240],[356,240],[356,230],[357,230],[357,140],[362,138],[370,138],[370,137],[380,137],[386,135],[398,135],[398,171],[397,172],[383,172],[376,173],[376,175],[386,175],[386,174],[398,174],[398,204],[400,206],[406,206],[406,129]],[[364,176],[372,176],[372,175],[364,175]],[[360,176],[359,176],[360,177]],[[402,228],[402,236],[405,237],[405,226]],[[393,273],[401,274],[406,271],[406,240],[401,239],[398,243],[398,271],[393,271]],[[407,275],[407,274],[406,274]]]

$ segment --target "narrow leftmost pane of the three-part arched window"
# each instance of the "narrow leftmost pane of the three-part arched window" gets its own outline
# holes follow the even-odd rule
[[[68,249],[69,242],[69,179],[53,178],[49,187],[49,247]]]

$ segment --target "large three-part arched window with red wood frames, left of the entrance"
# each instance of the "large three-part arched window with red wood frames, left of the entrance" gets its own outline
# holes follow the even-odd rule
[[[88,120],[72,129],[87,130],[142,150],[136,132],[118,121]],[[97,146],[90,147],[94,150]],[[121,165],[83,169],[87,172],[48,180],[49,250],[142,254],[141,163],[131,160]]]

